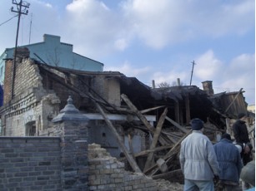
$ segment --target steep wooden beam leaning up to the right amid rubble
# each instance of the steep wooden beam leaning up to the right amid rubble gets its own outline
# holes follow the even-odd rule
[[[158,120],[158,125],[157,125],[155,133],[153,135],[153,140],[152,140],[152,143],[151,143],[149,149],[154,149],[156,147],[157,143],[158,143],[158,137],[161,134],[161,130],[162,130],[162,127],[163,127],[163,122],[164,122],[164,119],[165,119],[165,116],[166,116],[167,112],[168,112],[168,109],[165,108],[164,111],[163,111],[163,114],[161,115],[160,119]],[[153,160],[153,152],[148,154],[148,158],[146,160],[146,164],[144,166],[144,169],[148,169],[148,166],[150,166],[152,164],[152,160]]]

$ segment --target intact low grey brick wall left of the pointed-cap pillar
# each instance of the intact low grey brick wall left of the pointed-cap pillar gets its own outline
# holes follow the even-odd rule
[[[61,190],[60,139],[0,138],[0,190]]]

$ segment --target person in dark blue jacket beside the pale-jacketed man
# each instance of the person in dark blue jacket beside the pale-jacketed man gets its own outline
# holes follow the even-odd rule
[[[220,168],[217,190],[235,191],[239,189],[239,176],[243,167],[238,148],[231,136],[223,134],[221,140],[213,145]]]

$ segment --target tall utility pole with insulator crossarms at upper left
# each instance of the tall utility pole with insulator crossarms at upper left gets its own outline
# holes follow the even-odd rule
[[[19,30],[19,22],[21,19],[21,15],[28,15],[29,3],[25,2],[23,0],[20,0],[20,2],[17,2],[16,0],[13,0],[13,4],[16,5],[17,10],[14,10],[13,7],[11,8],[12,12],[18,12],[18,27],[17,27],[17,33],[16,33],[16,42],[15,42],[15,48],[14,48],[14,58],[13,58],[13,86],[12,86],[12,99],[14,97],[14,81],[15,81],[15,74],[16,74],[16,56],[17,56],[17,46],[18,46],[18,30]]]

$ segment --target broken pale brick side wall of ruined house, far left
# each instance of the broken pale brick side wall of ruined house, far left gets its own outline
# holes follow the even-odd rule
[[[13,86],[13,61],[6,62],[4,105],[0,110],[1,135],[39,135],[39,130],[47,128],[57,115],[59,100],[53,92],[49,94],[43,88],[43,78],[33,60],[18,59],[16,65]]]

